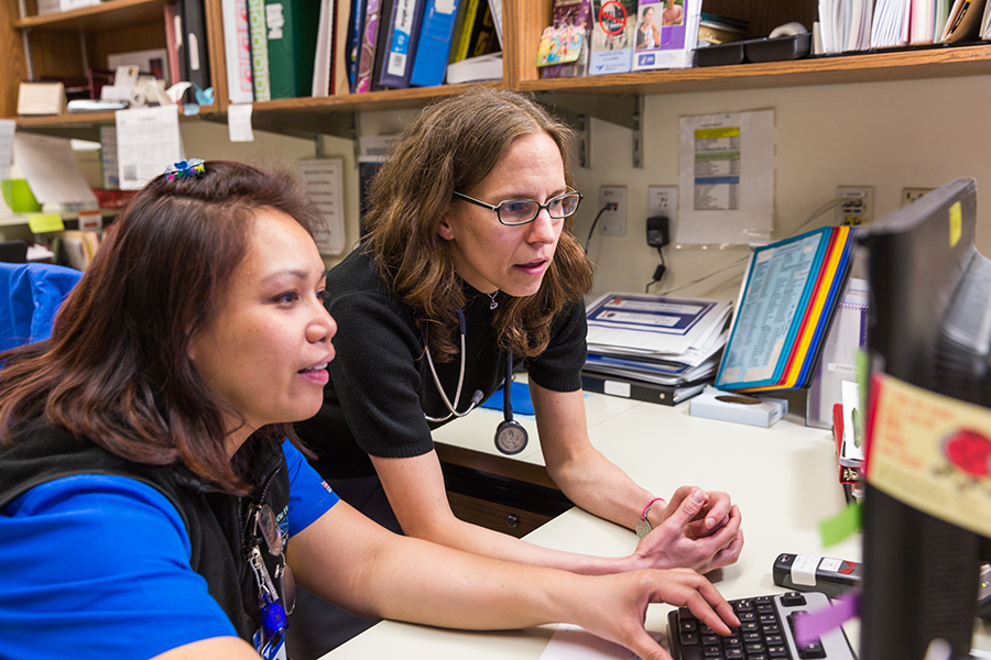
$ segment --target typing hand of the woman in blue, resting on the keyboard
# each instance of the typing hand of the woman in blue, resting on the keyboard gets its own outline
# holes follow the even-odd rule
[[[575,623],[599,637],[621,644],[644,660],[671,660],[671,656],[644,630],[643,620],[651,603],[687,607],[719,635],[729,635],[730,628],[740,626],[732,606],[716,587],[689,569],[633,571],[595,580],[608,580],[611,584],[607,588],[593,587],[590,597],[579,596],[587,602],[588,608],[582,612],[586,616],[580,618],[588,620]]]

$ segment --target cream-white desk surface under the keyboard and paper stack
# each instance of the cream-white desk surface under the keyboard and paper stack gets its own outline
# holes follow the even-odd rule
[[[668,497],[680,485],[725,491],[743,514],[743,552],[732,566],[710,575],[727,598],[782,593],[771,579],[781,552],[860,561],[860,537],[824,548],[818,522],[843,506],[837,482],[835,444],[829,431],[805,427],[794,416],[770,429],[701,419],[688,404],[665,407],[598,394],[586,396],[592,443],[635,482]],[[498,453],[493,443],[502,414],[473,411],[435,432],[435,440]],[[518,416],[519,417],[519,416]],[[536,424],[521,419],[531,444],[519,460],[543,464]],[[549,548],[620,557],[632,552],[632,531],[573,508],[526,536]],[[666,630],[668,605],[647,610],[649,630]],[[847,624],[857,646],[858,623]],[[359,635],[326,660],[383,657],[407,660],[514,658],[537,660],[556,626],[500,632],[464,632],[383,622]],[[982,628],[976,648],[991,650],[991,630]]]

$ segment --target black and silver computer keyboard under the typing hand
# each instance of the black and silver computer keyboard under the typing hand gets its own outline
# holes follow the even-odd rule
[[[795,642],[795,617],[828,604],[829,598],[818,592],[730,601],[741,626],[726,637],[682,607],[667,616],[671,654],[674,660],[857,660],[842,628],[804,647]]]

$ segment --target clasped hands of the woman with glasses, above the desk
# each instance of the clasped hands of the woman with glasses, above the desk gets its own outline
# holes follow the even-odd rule
[[[661,518],[661,525],[640,541],[634,552],[650,565],[708,573],[740,558],[742,516],[726,493],[682,486],[664,507]]]

